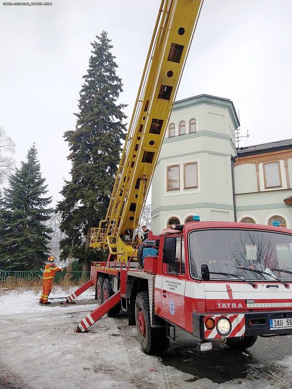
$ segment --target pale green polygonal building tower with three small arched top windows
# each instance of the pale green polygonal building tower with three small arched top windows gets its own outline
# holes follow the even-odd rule
[[[152,181],[154,233],[192,215],[234,221],[231,157],[238,126],[229,99],[201,94],[174,104]]]

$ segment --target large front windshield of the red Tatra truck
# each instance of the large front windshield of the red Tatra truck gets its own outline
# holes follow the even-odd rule
[[[188,242],[194,278],[201,278],[201,265],[208,265],[210,272],[233,273],[251,281],[292,280],[292,235],[214,229],[192,231]],[[230,279],[222,274],[210,278]]]

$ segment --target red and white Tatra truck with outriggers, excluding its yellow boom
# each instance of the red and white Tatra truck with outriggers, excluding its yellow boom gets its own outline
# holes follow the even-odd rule
[[[122,309],[147,354],[165,351],[176,327],[201,351],[216,339],[248,348],[257,336],[292,334],[292,230],[194,221],[150,233],[138,250],[143,270],[131,261],[92,263],[91,280],[68,301],[96,285],[100,305],[77,332]]]

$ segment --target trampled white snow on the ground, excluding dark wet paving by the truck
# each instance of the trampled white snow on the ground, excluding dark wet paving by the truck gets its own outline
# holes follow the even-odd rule
[[[1,389],[280,388],[255,377],[223,384],[207,378],[194,381],[195,372],[165,366],[160,357],[144,354],[136,328],[128,327],[122,315],[105,316],[89,333],[76,334],[78,322],[96,302],[89,290],[76,299],[76,305],[60,306],[66,296],[56,290],[50,295],[54,301],[50,306],[38,304],[39,295],[31,291],[0,296]],[[292,374],[292,356],[277,363]],[[292,383],[284,387],[292,388]]]

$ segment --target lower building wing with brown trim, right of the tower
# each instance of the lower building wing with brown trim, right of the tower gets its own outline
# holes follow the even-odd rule
[[[237,149],[237,220],[292,228],[292,139]]]

